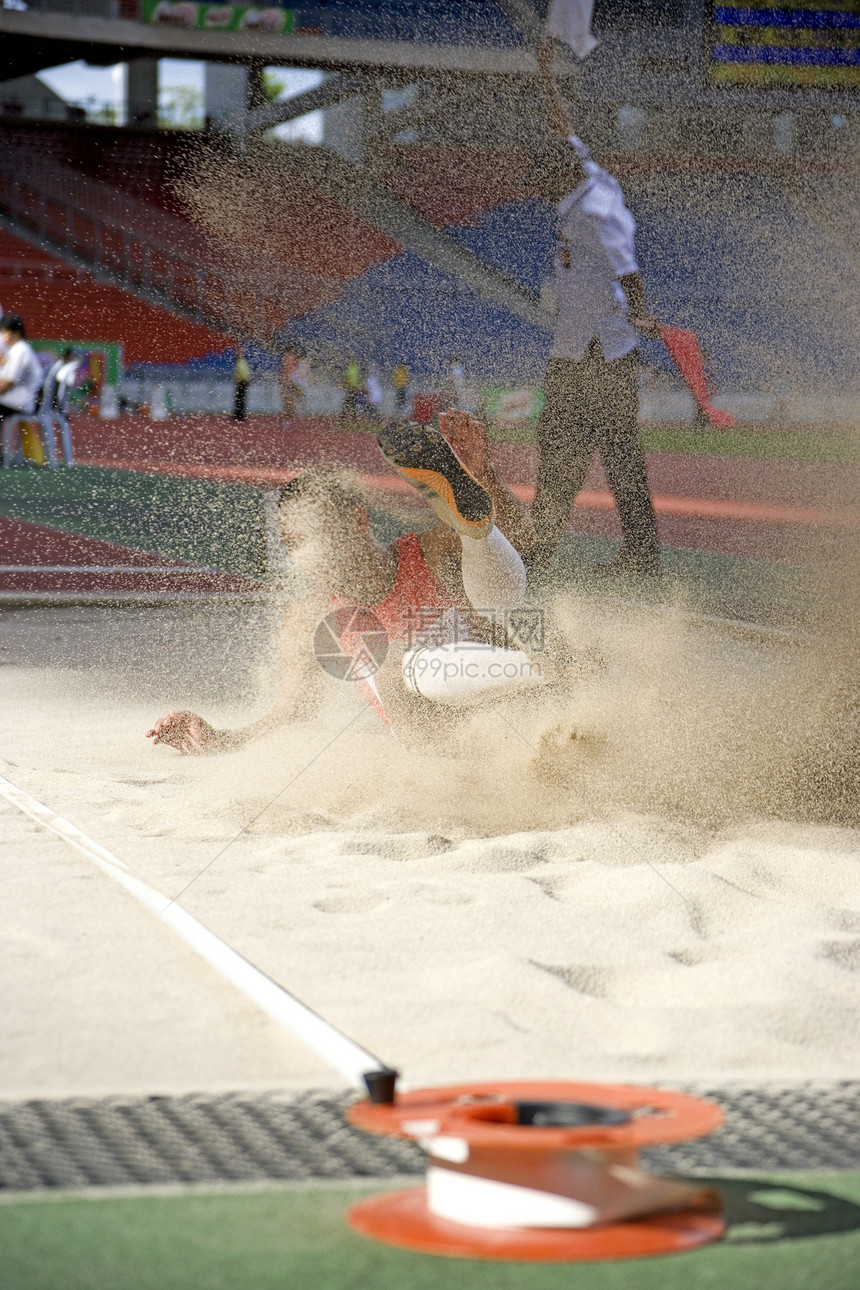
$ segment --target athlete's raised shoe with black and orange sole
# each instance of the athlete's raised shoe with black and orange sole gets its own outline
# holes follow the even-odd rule
[[[391,422],[379,436],[383,457],[418,489],[455,533],[485,538],[494,522],[493,499],[456,457],[436,426]]]

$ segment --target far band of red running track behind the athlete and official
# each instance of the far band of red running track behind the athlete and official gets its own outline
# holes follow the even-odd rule
[[[329,418],[177,417],[148,422],[80,418],[80,459],[276,488],[297,470],[344,466],[384,488],[404,489],[371,433],[340,431]],[[499,473],[530,501],[533,444],[496,444]],[[830,559],[860,529],[860,467],[845,463],[649,454],[660,538],[665,546],[794,562]],[[571,516],[571,531],[619,537],[612,498],[596,459]]]

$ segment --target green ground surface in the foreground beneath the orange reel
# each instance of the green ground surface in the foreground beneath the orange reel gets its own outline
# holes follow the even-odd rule
[[[855,1290],[860,1174],[717,1184],[726,1240],[598,1264],[484,1263],[376,1245],[344,1218],[367,1187],[23,1200],[0,1206],[0,1282],[8,1290]]]

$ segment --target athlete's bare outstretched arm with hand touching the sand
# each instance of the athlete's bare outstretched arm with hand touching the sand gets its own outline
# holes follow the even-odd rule
[[[281,725],[312,716],[318,707],[322,688],[322,671],[313,657],[312,641],[316,624],[325,613],[318,596],[309,596],[288,606],[281,626],[284,668],[280,697],[267,716],[237,730],[217,730],[196,712],[170,711],[147,730],[147,738],[153,744],[166,743],[188,755],[230,752]]]

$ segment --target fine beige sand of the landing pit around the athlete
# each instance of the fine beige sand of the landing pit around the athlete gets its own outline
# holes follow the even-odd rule
[[[275,623],[4,613],[0,773],[413,1085],[856,1073],[833,646],[571,599],[558,630],[602,666],[438,747],[334,680],[320,719],[241,752],[147,743],[169,707],[264,711]],[[1,1096],[340,1084],[5,806],[0,866]]]

